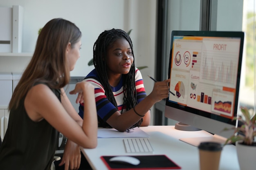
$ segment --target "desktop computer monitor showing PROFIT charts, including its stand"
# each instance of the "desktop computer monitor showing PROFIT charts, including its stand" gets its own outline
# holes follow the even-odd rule
[[[195,146],[201,141],[225,143],[234,133],[224,129],[237,126],[233,118],[239,108],[243,42],[243,32],[172,31],[165,117],[190,125],[182,130],[213,134],[180,140]]]

